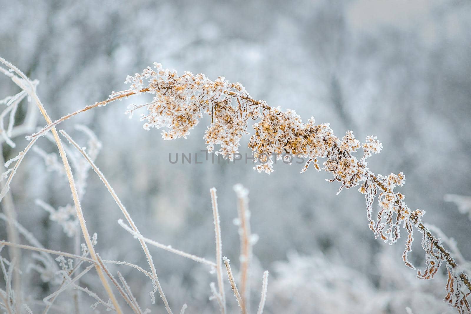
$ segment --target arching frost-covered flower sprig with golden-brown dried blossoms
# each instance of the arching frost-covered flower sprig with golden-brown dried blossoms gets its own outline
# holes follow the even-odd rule
[[[240,83],[229,83],[224,77],[211,81],[204,74],[185,72],[179,76],[176,71],[163,69],[161,64],[155,63],[154,69],[147,67],[140,74],[128,76],[126,82],[131,84],[130,89],[122,95],[130,91],[138,94],[142,90],[154,95],[151,102],[131,105],[126,113],[146,107],[147,114],[141,117],[141,121],[145,121],[144,129],[164,128],[162,137],[165,140],[186,138],[206,113],[211,116],[211,124],[204,135],[208,152],[219,145],[216,153],[233,159],[238,153],[240,138],[248,134],[251,118],[259,120],[253,124],[255,133],[248,145],[259,162],[254,167],[257,171],[273,172],[274,154],[277,159],[288,161],[292,155],[307,159],[301,172],[308,170],[310,164],[320,171],[319,159],[325,159],[322,169],[333,174],[327,181],[341,183],[338,193],[343,188],[359,186],[359,192],[365,195],[368,226],[375,238],[393,244],[400,238],[401,225],[406,229],[406,249],[402,258],[406,266],[414,270],[407,254],[412,250],[414,227],[422,233],[426,268],[417,270],[417,278],[432,279],[444,263],[448,272],[445,301],[460,313],[471,313],[467,300],[471,293],[468,275],[459,270],[440,240],[422,224],[425,212],[411,210],[404,202],[405,196],[394,191],[396,186],[404,185],[404,174],[375,175],[367,168],[367,158],[382,150],[382,144],[375,136],[366,137],[363,144],[352,131],[347,131],[342,138],[336,137],[328,123],[317,125],[313,117],[304,123],[293,110],[282,111],[280,107],[257,101]],[[360,159],[354,156],[358,150],[363,151]],[[374,219],[376,199],[380,209]]]

